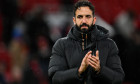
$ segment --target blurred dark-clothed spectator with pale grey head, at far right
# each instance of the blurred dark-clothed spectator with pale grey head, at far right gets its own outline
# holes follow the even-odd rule
[[[119,48],[119,56],[122,60],[122,67],[125,71],[124,84],[139,84],[139,40],[140,35],[135,27],[136,15],[133,11],[122,12],[116,19],[116,35],[113,37]]]

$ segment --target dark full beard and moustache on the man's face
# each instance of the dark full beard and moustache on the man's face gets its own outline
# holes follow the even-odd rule
[[[82,29],[81,29],[82,26],[87,26],[88,29],[86,29],[86,28],[82,28]],[[93,26],[94,26],[93,23],[92,23],[91,25],[88,25],[88,24],[86,24],[86,23],[83,23],[83,24],[81,24],[80,26],[78,26],[78,25],[76,24],[76,28],[77,28],[79,31],[83,32],[83,33],[88,33],[89,31],[91,31],[91,30],[93,29]]]

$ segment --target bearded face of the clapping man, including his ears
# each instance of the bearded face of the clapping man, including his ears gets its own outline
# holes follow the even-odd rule
[[[73,22],[81,30],[88,30],[89,27],[95,24],[96,18],[93,17],[92,11],[89,7],[79,7],[75,12]]]

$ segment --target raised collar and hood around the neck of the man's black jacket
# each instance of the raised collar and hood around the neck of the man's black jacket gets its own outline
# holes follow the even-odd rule
[[[75,27],[76,26],[73,26],[71,28],[71,30],[69,31],[67,36],[69,38],[76,40],[76,41],[82,42],[82,32],[79,31]],[[94,25],[93,29],[91,31],[89,31],[88,33],[83,33],[83,34],[84,34],[84,37],[85,37],[85,34],[87,34],[87,39],[84,40],[84,41],[86,41],[85,49],[97,44],[97,42],[99,40],[105,39],[109,36],[108,30],[106,30],[105,28],[103,28],[99,25]]]

